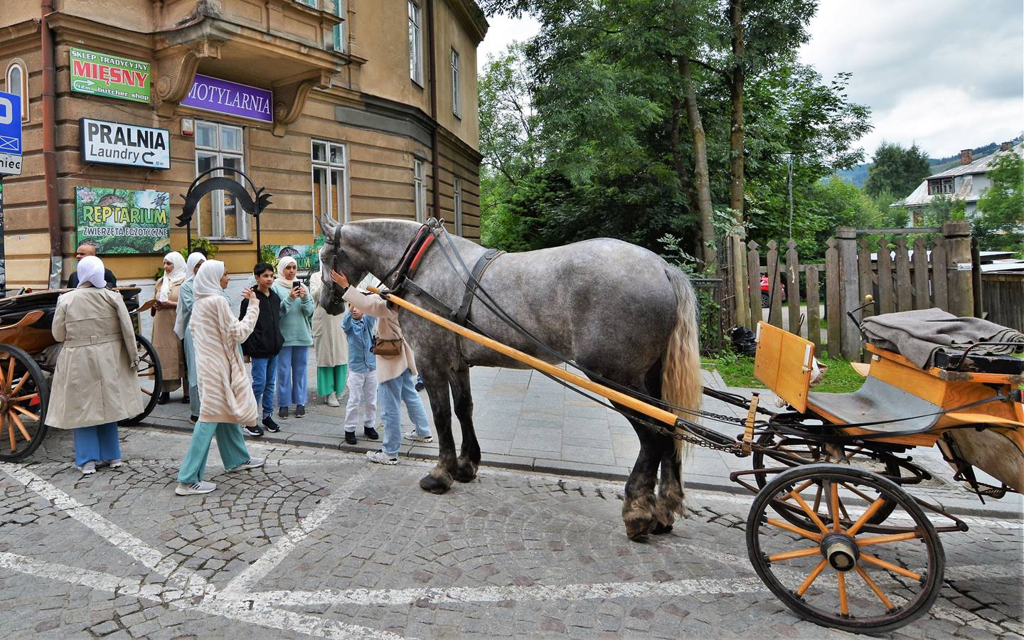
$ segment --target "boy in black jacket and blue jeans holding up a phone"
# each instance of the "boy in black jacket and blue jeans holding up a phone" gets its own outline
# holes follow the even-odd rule
[[[273,267],[266,262],[260,262],[253,267],[256,286],[253,292],[259,300],[259,318],[256,328],[242,343],[242,352],[253,364],[253,393],[256,403],[263,407],[263,426],[267,431],[276,433],[280,428],[273,421],[273,383],[278,372],[278,353],[281,352],[285,338],[281,335],[281,298],[273,292]],[[239,319],[246,315],[249,301],[242,300]],[[246,427],[247,435],[260,436],[263,430],[258,426]]]

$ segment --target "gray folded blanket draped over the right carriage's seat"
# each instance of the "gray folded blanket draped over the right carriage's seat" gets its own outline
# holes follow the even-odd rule
[[[971,350],[979,355],[1010,355],[1024,351],[1024,334],[980,317],[956,317],[942,309],[922,309],[872,315],[861,323],[871,344],[896,351],[927,369],[935,352],[963,351],[978,342],[1014,342],[1015,345],[985,345]]]

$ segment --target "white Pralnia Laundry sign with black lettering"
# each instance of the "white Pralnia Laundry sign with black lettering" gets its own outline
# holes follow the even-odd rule
[[[170,169],[171,134],[167,129],[151,129],[117,122],[82,118],[82,162],[125,165],[148,169]]]

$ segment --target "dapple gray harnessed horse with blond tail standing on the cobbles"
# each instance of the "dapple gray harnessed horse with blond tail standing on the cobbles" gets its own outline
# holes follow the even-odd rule
[[[324,293],[321,304],[341,313],[340,291],[330,279],[336,265],[349,282],[369,272],[383,278],[401,258],[420,227],[410,221],[365,220],[339,225],[322,220],[327,242],[321,250]],[[453,238],[455,251],[472,266],[486,250]],[[441,238],[450,255],[452,247]],[[458,266],[455,255],[452,260]],[[453,309],[465,291],[465,271],[452,268],[442,248],[429,248],[415,282]],[[599,239],[555,249],[504,254],[481,276],[494,300],[540,341],[581,367],[630,389],[688,410],[699,410],[700,362],[696,302],[689,281],[653,253],[617,240]],[[415,293],[406,298],[431,308]],[[453,479],[476,477],[480,447],[473,430],[469,368],[525,369],[475,342],[459,337],[406,310],[399,311],[406,338],[416,352],[423,376],[440,455],[437,466],[420,480],[428,492],[442,494]],[[469,319],[489,337],[547,361],[538,348],[502,322],[479,300]],[[452,401],[462,427],[462,451],[456,457],[452,437]],[[692,418],[692,416],[689,416]],[[647,424],[630,419],[640,438],[640,455],[626,483],[623,520],[630,539],[672,528],[674,514],[683,515],[682,442]],[[655,496],[658,467],[662,476]]]

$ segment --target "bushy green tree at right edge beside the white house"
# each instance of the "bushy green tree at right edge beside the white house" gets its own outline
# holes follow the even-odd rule
[[[1024,252],[1024,160],[1001,155],[988,172],[992,185],[978,201],[972,219],[982,249]]]

